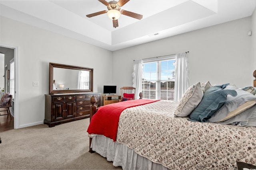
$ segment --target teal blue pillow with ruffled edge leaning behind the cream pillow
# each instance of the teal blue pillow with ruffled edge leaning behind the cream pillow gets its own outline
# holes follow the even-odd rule
[[[202,101],[190,114],[189,120],[206,122],[224,104],[228,94],[231,96],[237,95],[236,90],[225,90],[225,87],[213,86],[206,90]]]

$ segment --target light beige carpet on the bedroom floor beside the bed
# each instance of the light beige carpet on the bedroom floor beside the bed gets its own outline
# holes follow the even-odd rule
[[[89,118],[0,133],[0,169],[122,169],[90,153]]]

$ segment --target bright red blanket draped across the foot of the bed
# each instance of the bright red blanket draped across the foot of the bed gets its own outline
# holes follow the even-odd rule
[[[118,122],[120,114],[124,109],[143,104],[149,104],[158,100],[142,99],[128,100],[99,107],[98,111],[92,116],[92,120],[87,129],[89,134],[104,135],[116,141]]]

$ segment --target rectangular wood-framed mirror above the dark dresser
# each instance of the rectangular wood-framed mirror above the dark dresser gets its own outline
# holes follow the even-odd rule
[[[49,93],[93,92],[93,68],[50,63]]]

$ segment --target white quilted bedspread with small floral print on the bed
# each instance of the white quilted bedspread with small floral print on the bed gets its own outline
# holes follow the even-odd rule
[[[174,117],[177,102],[125,109],[117,142],[170,169],[236,169],[256,164],[256,127],[191,122]]]

